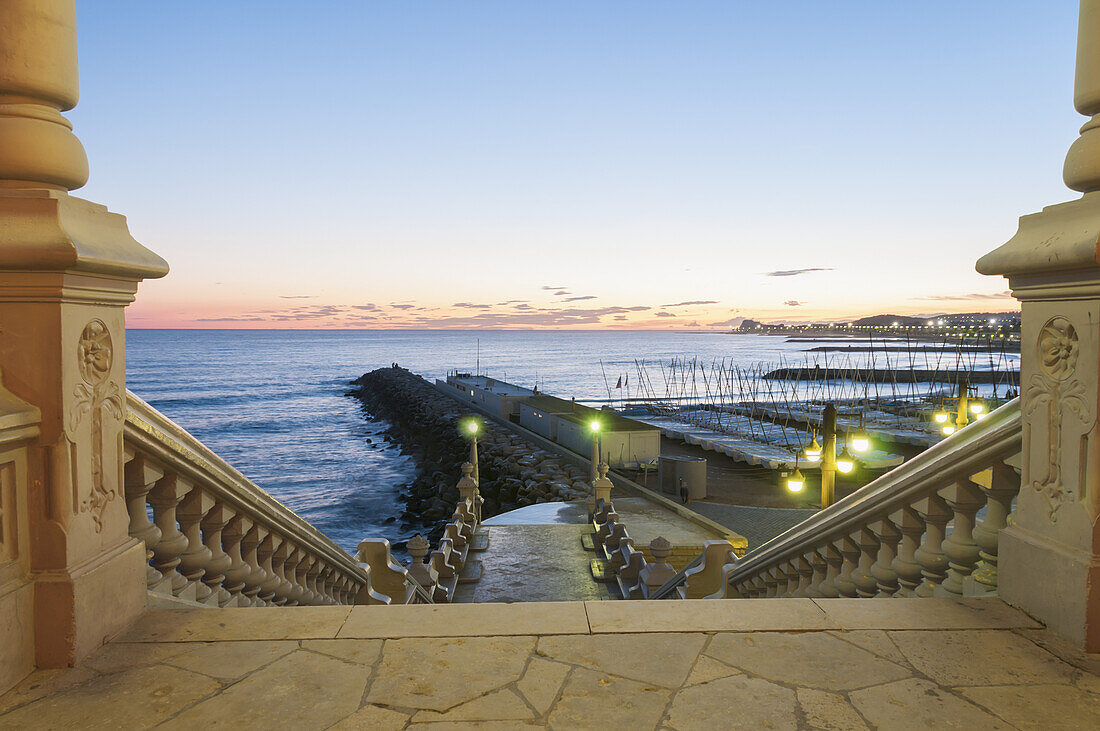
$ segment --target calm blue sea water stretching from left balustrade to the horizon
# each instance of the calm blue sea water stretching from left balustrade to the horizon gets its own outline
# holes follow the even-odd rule
[[[349,551],[366,536],[406,540],[396,485],[411,461],[381,440],[345,396],[363,373],[397,362],[428,378],[481,372],[578,399],[637,394],[645,358],[663,395],[672,358],[710,365],[802,363],[805,343],[719,333],[131,330],[127,380],[147,400]],[[864,357],[864,356],[858,356]],[[881,365],[882,355],[878,356]],[[372,440],[373,443],[367,440]]]

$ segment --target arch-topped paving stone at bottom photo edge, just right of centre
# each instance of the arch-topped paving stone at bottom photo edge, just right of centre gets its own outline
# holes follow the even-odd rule
[[[790,688],[734,675],[678,693],[668,726],[678,731],[796,729],[798,701]]]

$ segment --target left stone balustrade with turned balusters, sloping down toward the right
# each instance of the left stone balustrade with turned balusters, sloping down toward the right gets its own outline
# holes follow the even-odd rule
[[[127,405],[130,534],[150,590],[212,607],[389,603],[309,522],[129,391]]]

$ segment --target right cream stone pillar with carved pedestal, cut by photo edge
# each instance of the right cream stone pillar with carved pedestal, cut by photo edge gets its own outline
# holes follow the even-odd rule
[[[1081,0],[1074,102],[1089,118],[1063,177],[1078,200],[1020,219],[978,272],[1021,301],[1022,486],[998,545],[999,594],[1100,651],[1100,0]],[[1021,141],[1025,144],[1025,141]]]

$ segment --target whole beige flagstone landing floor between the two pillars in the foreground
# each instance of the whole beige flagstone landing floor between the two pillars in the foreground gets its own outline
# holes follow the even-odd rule
[[[1080,729],[1098,666],[997,599],[157,610],[0,728]]]

